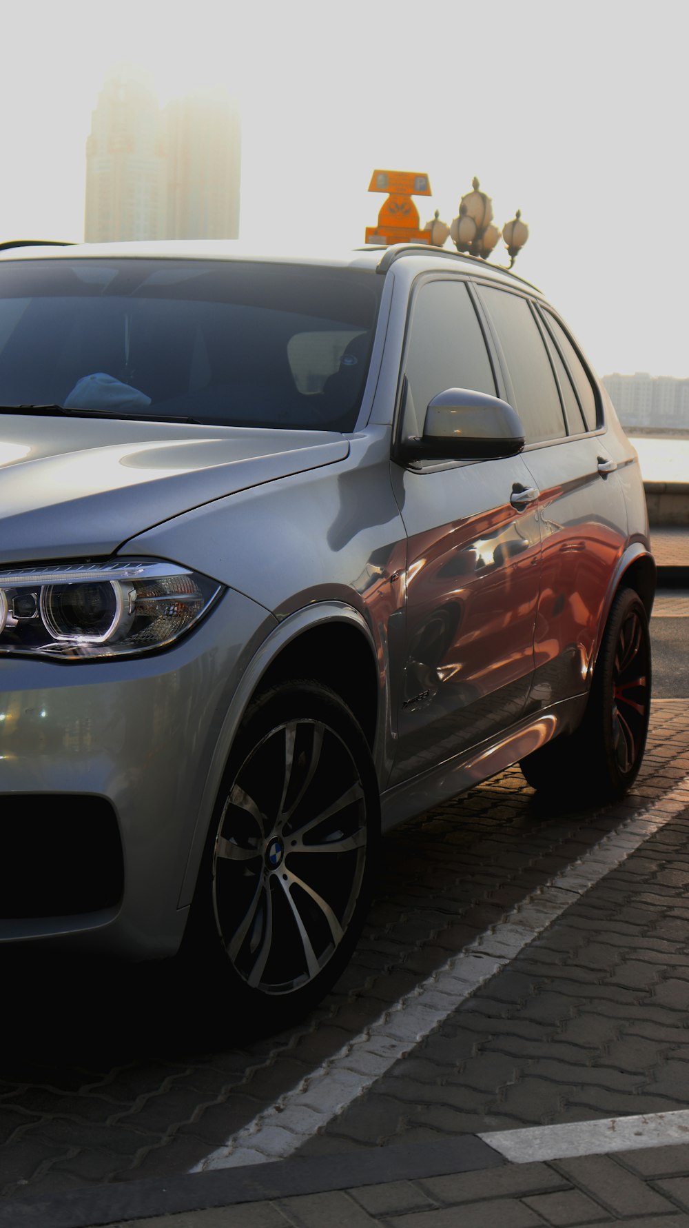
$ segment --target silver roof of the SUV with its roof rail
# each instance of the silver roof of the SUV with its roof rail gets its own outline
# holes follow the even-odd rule
[[[403,260],[411,263],[414,274],[447,269],[454,265],[457,271],[473,276],[489,278],[502,284],[520,285],[540,293],[535,286],[510,273],[500,265],[470,255],[461,255],[446,248],[429,247],[424,243],[394,243],[389,247],[366,244],[350,251],[308,252],[280,248],[249,248],[237,239],[138,239],[122,243],[50,243],[47,239],[22,239],[0,244],[0,260],[44,260],[50,259],[194,259],[194,260],[241,260],[257,263],[308,264],[314,266],[372,269],[386,274],[394,264]]]

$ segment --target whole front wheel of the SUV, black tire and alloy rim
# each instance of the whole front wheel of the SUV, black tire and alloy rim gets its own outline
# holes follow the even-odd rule
[[[262,695],[232,748],[184,942],[246,1023],[276,1030],[341,975],[378,842],[377,777],[346,705],[311,682]]]

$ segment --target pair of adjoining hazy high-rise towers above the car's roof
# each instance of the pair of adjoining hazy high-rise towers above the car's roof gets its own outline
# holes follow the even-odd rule
[[[220,95],[161,112],[130,68],[106,82],[86,145],[86,242],[237,238],[241,124]]]

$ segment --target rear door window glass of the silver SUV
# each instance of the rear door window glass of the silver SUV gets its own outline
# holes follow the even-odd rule
[[[517,410],[527,443],[566,435],[558,384],[538,324],[526,298],[481,286],[510,368]]]

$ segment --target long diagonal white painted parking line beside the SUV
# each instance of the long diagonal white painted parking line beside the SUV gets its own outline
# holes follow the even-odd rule
[[[661,809],[662,806],[662,809]],[[285,1159],[325,1129],[364,1092],[441,1024],[481,985],[506,968],[524,947],[620,866],[648,836],[689,807],[689,776],[663,795],[656,807],[628,819],[583,857],[555,874],[516,905],[491,930],[435,971],[348,1041],[290,1092],[264,1109],[192,1172]],[[548,1126],[548,1130],[555,1127]]]

